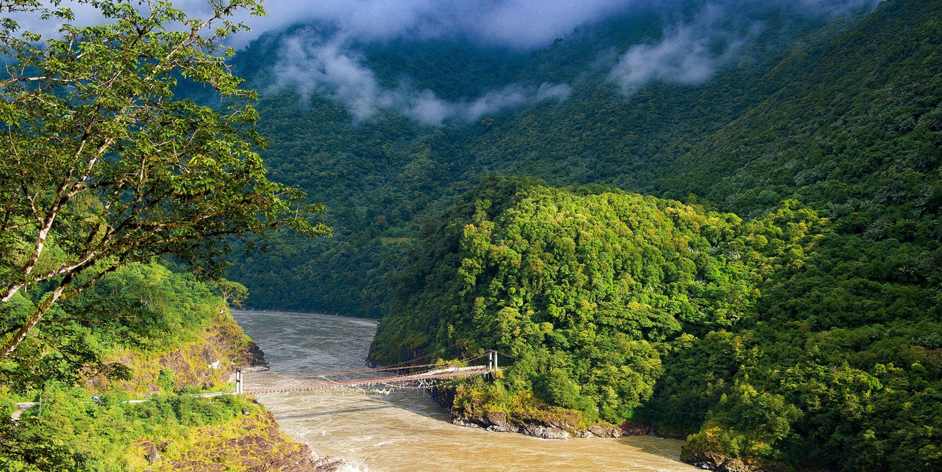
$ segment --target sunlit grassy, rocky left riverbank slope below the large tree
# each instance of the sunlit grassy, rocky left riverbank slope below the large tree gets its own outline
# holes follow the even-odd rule
[[[4,304],[6,322],[28,313],[32,301],[18,297]],[[187,271],[126,266],[36,332],[0,366],[0,453],[10,470],[346,466],[289,439],[253,399],[187,395],[230,390],[236,367],[267,365],[226,301]],[[40,406],[12,420],[24,401]]]

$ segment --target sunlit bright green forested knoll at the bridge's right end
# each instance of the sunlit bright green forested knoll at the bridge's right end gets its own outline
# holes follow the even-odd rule
[[[763,268],[743,254],[739,217],[530,182],[489,179],[449,211],[403,274],[409,288],[382,320],[374,359],[455,343],[501,350],[518,360],[512,387],[532,382],[551,403],[617,422],[650,398],[657,343],[682,324],[750,316]]]

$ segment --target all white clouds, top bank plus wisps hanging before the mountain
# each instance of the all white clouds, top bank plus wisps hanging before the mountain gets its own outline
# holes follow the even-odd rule
[[[711,0],[696,19],[674,24],[662,39],[636,44],[618,58],[609,79],[626,94],[651,81],[699,84],[711,78],[732,60],[750,35],[736,35],[722,24],[737,20],[740,10],[776,4],[804,15],[828,17],[859,8],[875,8],[878,0]],[[175,5],[192,17],[205,17],[207,0],[177,0]],[[240,46],[268,29],[316,21],[332,28],[331,35],[301,31],[283,40],[273,72],[274,88],[296,87],[303,96],[323,93],[349,107],[356,121],[368,119],[380,109],[396,108],[416,122],[473,122],[502,109],[526,106],[542,100],[564,100],[570,87],[544,84],[540,87],[508,85],[479,97],[446,101],[431,90],[407,85],[383,88],[364,58],[351,49],[354,41],[387,41],[408,38],[463,38],[518,49],[542,47],[571,32],[580,24],[592,24],[631,8],[676,11],[681,0],[271,0],[265,6],[270,16],[238,18],[252,25],[252,33],[240,33],[231,43]],[[77,25],[102,21],[87,1],[66,0],[73,8]],[[26,29],[53,35],[57,24],[31,15],[17,15]],[[725,23],[724,23],[725,22]],[[592,67],[592,66],[590,66]]]

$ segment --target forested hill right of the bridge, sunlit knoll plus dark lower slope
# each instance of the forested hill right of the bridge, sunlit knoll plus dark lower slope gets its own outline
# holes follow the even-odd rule
[[[500,350],[459,415],[650,422],[694,464],[937,470],[938,290],[885,280],[898,245],[795,201],[742,220],[495,177],[425,237],[370,356]]]

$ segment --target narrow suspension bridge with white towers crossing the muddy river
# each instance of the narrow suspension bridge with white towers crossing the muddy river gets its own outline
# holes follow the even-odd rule
[[[203,394],[201,396],[210,397],[217,395],[245,395],[245,394],[265,394],[279,392],[295,392],[302,390],[322,390],[329,388],[362,387],[375,385],[389,386],[414,386],[418,388],[428,388],[436,385],[439,381],[447,379],[456,379],[463,377],[473,377],[479,375],[494,374],[499,368],[497,366],[496,350],[488,350],[484,354],[465,359],[465,362],[473,362],[487,356],[487,366],[449,366],[443,367],[441,364],[422,364],[382,366],[376,368],[365,368],[358,370],[345,370],[336,372],[321,372],[303,377],[289,377],[296,382],[294,385],[278,387],[258,387],[246,388],[242,379],[242,371],[235,371],[235,392],[218,392],[214,394]],[[426,356],[423,356],[426,357]],[[414,359],[410,362],[415,362]],[[424,369],[418,372],[400,373],[404,370]],[[375,376],[383,372],[394,372],[392,375]],[[374,376],[365,377],[373,374]],[[352,378],[351,378],[352,377]]]

